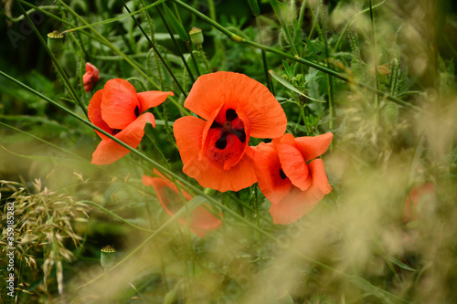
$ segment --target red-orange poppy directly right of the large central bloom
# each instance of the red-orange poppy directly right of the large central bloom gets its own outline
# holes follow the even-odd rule
[[[270,214],[275,224],[295,222],[332,191],[324,162],[313,160],[327,150],[332,138],[330,132],[299,138],[284,134],[255,147],[259,188],[271,201]]]

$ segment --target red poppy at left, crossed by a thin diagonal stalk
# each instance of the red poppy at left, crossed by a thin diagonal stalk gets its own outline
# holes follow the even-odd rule
[[[158,106],[167,96],[173,96],[173,92],[150,90],[136,93],[127,80],[111,79],[90,100],[89,120],[103,131],[136,148],[143,138],[146,122],[149,121],[155,127],[154,115],[144,111]],[[92,154],[92,163],[109,164],[130,152],[101,132],[96,132],[101,137],[101,143]]]

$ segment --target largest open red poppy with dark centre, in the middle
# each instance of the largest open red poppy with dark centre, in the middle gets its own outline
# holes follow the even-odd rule
[[[287,119],[279,102],[246,75],[217,72],[199,77],[184,106],[202,119],[175,121],[183,171],[204,187],[238,191],[257,181],[250,136],[281,136]]]

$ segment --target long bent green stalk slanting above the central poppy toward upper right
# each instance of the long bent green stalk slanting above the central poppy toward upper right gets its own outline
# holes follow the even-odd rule
[[[299,62],[299,63],[301,63],[303,65],[308,66],[308,67],[318,69],[318,70],[320,70],[320,71],[322,71],[322,72],[324,72],[326,74],[329,74],[329,75],[331,75],[331,76],[333,76],[333,77],[335,77],[337,79],[342,79],[342,80],[344,80],[346,82],[350,82],[350,83],[356,85],[359,88],[367,89],[368,91],[374,92],[377,95],[379,95],[381,98],[385,98],[387,100],[390,100],[390,101],[393,101],[395,103],[398,103],[399,105],[401,105],[403,107],[408,107],[408,108],[420,111],[420,108],[418,108],[418,107],[416,107],[416,106],[414,106],[414,105],[412,105],[412,104],[410,104],[410,103],[408,103],[406,101],[399,100],[398,98],[395,98],[393,96],[388,95],[388,93],[386,93],[386,92],[383,92],[383,91],[380,91],[378,89],[372,88],[372,87],[370,87],[370,86],[368,86],[366,84],[359,83],[359,82],[356,81],[356,79],[349,78],[348,76],[346,76],[344,74],[341,74],[341,73],[338,73],[333,69],[326,68],[326,67],[324,67],[324,66],[322,66],[320,64],[317,64],[317,63],[314,63],[313,61],[309,61],[309,60],[300,58],[298,56],[292,56],[292,55],[284,53],[281,50],[278,50],[276,48],[263,46],[263,45],[260,45],[259,43],[244,39],[243,37],[239,37],[238,35],[233,34],[232,32],[230,32],[224,26],[219,25],[217,22],[214,22],[212,19],[208,18],[204,14],[201,14],[196,9],[194,9],[192,6],[186,5],[184,2],[182,2],[180,0],[172,0],[172,1],[174,1],[177,5],[180,5],[180,6],[184,7],[186,10],[188,10],[192,14],[195,14],[195,15],[199,16],[201,19],[206,21],[208,24],[210,24],[211,26],[216,27],[220,32],[222,32],[223,34],[228,36],[231,40],[233,40],[233,41],[235,41],[237,43],[244,43],[244,44],[247,44],[247,45],[249,45],[251,47],[264,49],[267,52],[271,52],[271,53],[279,55],[279,56],[281,56],[283,58],[289,58],[289,59],[291,59],[293,61]]]

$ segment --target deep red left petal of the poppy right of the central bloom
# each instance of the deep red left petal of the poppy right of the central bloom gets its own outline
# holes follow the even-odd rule
[[[254,167],[260,191],[271,204],[278,204],[290,194],[293,185],[289,178],[281,173],[281,162],[273,144],[260,142],[254,150]]]

